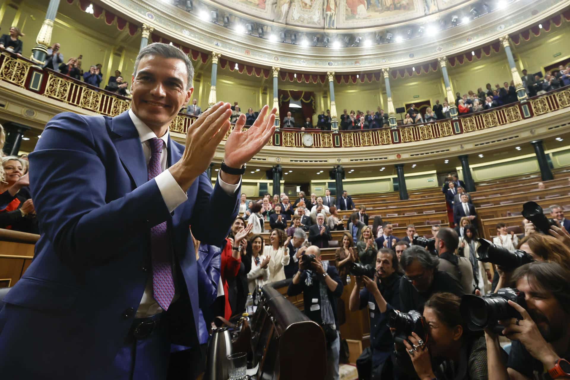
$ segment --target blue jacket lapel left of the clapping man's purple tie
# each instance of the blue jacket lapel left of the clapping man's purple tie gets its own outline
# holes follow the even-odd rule
[[[125,169],[137,187],[143,185],[148,181],[148,169],[146,169],[146,160],[139,132],[137,132],[128,111],[111,119],[111,130],[115,133],[115,137],[112,138],[113,144],[115,144],[115,149],[117,149]]]

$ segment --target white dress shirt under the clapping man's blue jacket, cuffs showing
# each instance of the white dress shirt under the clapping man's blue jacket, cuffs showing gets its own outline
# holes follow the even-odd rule
[[[142,120],[139,119],[135,115],[132,109],[129,109],[129,116],[135,124],[135,128],[137,132],[139,132],[139,137],[141,139],[141,144],[143,144],[143,153],[146,164],[148,165],[150,161],[150,156],[152,152],[150,152],[150,142],[151,138],[157,137],[154,132]],[[164,145],[162,146],[162,155],[160,157],[160,166],[162,167],[162,173],[158,174],[154,177],[154,181],[156,181],[156,185],[158,186],[158,190],[160,190],[160,194],[162,195],[162,199],[164,199],[164,203],[166,208],[170,213],[176,209],[176,207],[182,205],[182,203],[188,200],[188,196],[186,192],[182,190],[176,179],[172,177],[169,170],[166,170],[166,165],[168,164],[168,136],[169,132],[166,130],[164,136],[159,137],[160,140],[164,141]],[[232,195],[237,191],[239,185],[241,184],[241,179],[237,183],[237,185],[230,185],[229,183],[223,182],[221,178],[219,178],[218,174],[218,181],[219,185],[222,187],[224,191],[228,195]],[[174,295],[174,300],[177,299],[178,291]],[[174,301],[173,300],[173,301]],[[149,275],[148,281],[146,281],[146,288],[143,293],[143,298],[139,304],[139,309],[137,309],[137,313],[135,314],[135,318],[145,318],[153,316],[154,314],[158,314],[162,312],[162,308],[158,306],[156,300],[153,297],[153,289],[152,289],[152,274]]]

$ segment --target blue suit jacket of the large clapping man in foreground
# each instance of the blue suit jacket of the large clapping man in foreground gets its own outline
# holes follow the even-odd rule
[[[183,150],[169,138],[168,166]],[[156,181],[148,181],[128,112],[104,122],[55,116],[30,163],[41,236],[36,258],[0,310],[3,377],[109,378],[152,276],[150,228],[164,221],[181,295],[166,313],[171,339],[197,346],[198,310],[213,302],[215,289],[197,263],[189,226],[202,243],[220,246],[237,215],[239,191],[212,189],[203,173],[188,200],[169,213]]]

